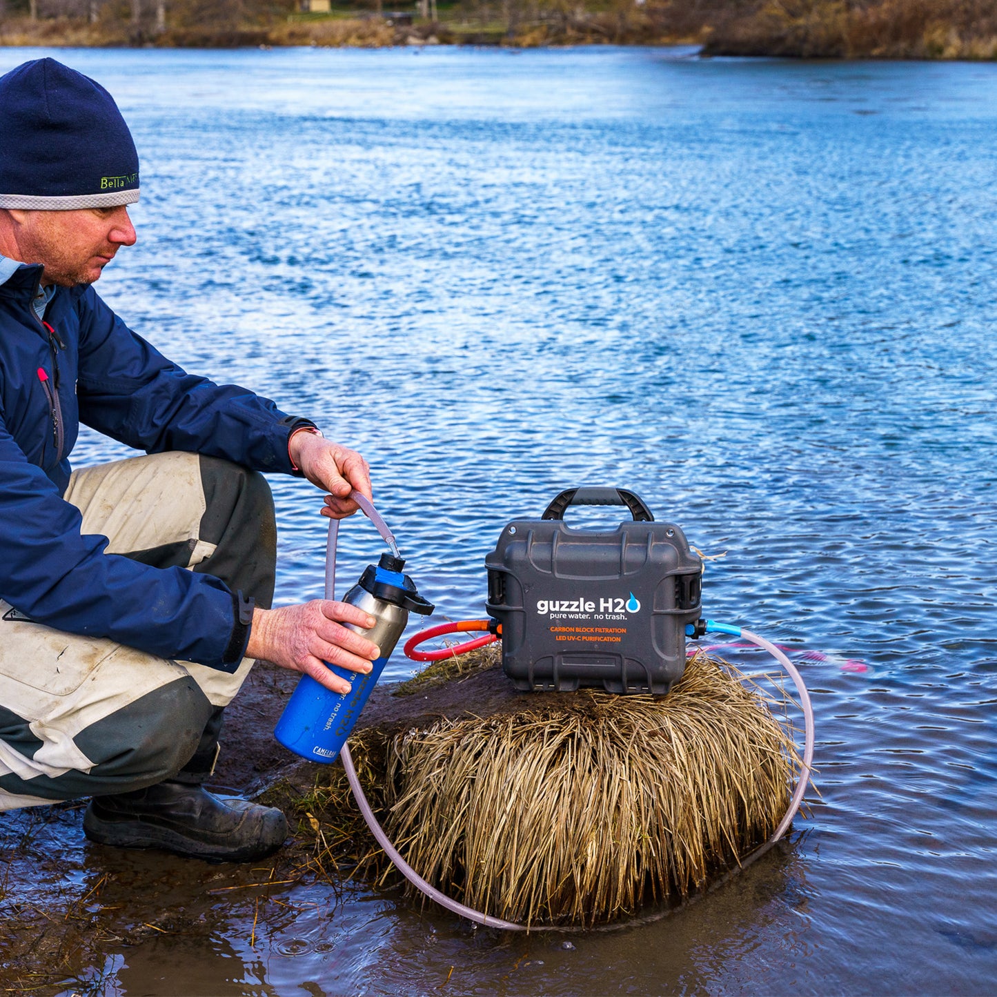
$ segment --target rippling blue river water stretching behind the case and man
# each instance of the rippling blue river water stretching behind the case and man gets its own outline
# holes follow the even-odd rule
[[[102,293],[173,359],[364,453],[437,618],[482,613],[506,521],[624,485],[726,552],[709,616],[825,656],[803,661],[823,799],[676,916],[564,947],[295,886],[250,932],[253,903],[220,893],[226,930],[112,939],[91,985],[991,990],[997,66],[61,58],[115,94],[142,156],[140,244]],[[85,437],[78,457],[120,454]],[[319,594],[314,495],[274,489],[278,599]],[[342,533],[351,578],[382,547]]]

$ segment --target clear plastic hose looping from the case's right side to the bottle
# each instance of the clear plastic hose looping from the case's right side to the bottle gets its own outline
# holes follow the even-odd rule
[[[364,512],[366,512],[370,517],[371,521],[378,527],[378,531],[385,538],[385,541],[392,547],[392,553],[399,556],[394,536],[391,535],[391,531],[388,529],[387,525],[385,525],[384,519],[382,519],[377,513],[377,510],[374,509],[374,506],[370,503],[370,501],[356,492],[354,492],[350,498],[357,501]],[[372,512],[373,514],[371,514]],[[325,597],[327,599],[334,599],[336,597],[336,537],[338,530],[339,520],[332,519],[329,523],[329,539],[326,545]],[[391,538],[389,539],[389,537]],[[807,725],[803,768],[801,769],[799,779],[797,780],[796,790],[790,800],[789,810],[787,810],[786,816],[783,818],[772,837],[770,837],[769,840],[766,841],[760,848],[752,852],[752,854],[741,863],[742,867],[744,867],[749,862],[754,861],[760,855],[768,851],[776,843],[776,841],[778,841],[783,834],[786,833],[787,829],[793,823],[793,818],[796,816],[797,811],[800,810],[800,805],[804,800],[804,794],[807,792],[807,785],[810,782],[811,765],[814,761],[814,711],[811,706],[810,695],[807,692],[807,687],[804,685],[803,678],[796,668],[794,668],[790,659],[778,647],[776,647],[775,644],[766,640],[764,637],[759,637],[750,630],[744,630],[740,627],[730,626],[725,623],[714,623],[712,620],[707,621],[707,630],[712,630],[716,633],[729,633],[734,634],[735,636],[743,637],[745,640],[750,640],[753,644],[757,644],[759,647],[768,651],[783,666],[783,668],[786,669],[787,674],[793,680],[793,684],[797,687],[797,692],[800,694],[800,706],[804,712]],[[404,875],[405,878],[416,887],[416,889],[420,890],[431,900],[435,900],[442,907],[446,907],[448,910],[453,911],[455,914],[459,914],[461,917],[467,917],[468,920],[484,924],[486,927],[501,928],[503,931],[530,930],[525,924],[515,924],[512,921],[504,921],[500,917],[492,917],[490,914],[485,914],[480,910],[475,910],[472,907],[466,907],[463,903],[458,903],[457,900],[451,899],[446,895],[446,893],[441,893],[436,886],[428,883],[398,853],[398,849],[391,843],[391,839],[384,832],[381,825],[378,824],[377,818],[374,816],[374,812],[371,810],[370,804],[367,802],[367,797],[364,796],[364,790],[360,785],[360,780],[357,778],[356,769],[353,768],[353,759],[350,757],[349,744],[343,745],[343,749],[339,753],[339,758],[343,763],[343,768],[346,770],[346,778],[350,783],[350,789],[353,791],[353,796],[357,801],[357,806],[360,808],[360,813],[363,814],[364,820],[367,822],[367,827],[370,828],[371,833],[375,836],[375,838],[377,838],[378,844],[384,848],[385,854],[395,863],[402,875]],[[533,930],[542,931],[549,929],[536,927],[533,928]]]

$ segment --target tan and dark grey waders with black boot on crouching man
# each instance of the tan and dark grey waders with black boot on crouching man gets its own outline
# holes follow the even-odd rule
[[[269,607],[276,525],[255,472],[193,454],[136,457],[75,472],[65,498],[109,553],[215,575]],[[103,843],[233,860],[274,851],[279,811],[201,789],[222,710],[251,666],[227,674],[158,658],[0,600],[0,810],[95,797],[84,828]]]

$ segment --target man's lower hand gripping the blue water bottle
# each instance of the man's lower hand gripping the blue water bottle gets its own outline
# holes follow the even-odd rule
[[[300,465],[299,465],[300,467]],[[333,692],[347,693],[350,684],[324,662],[366,675],[381,655],[377,644],[343,623],[365,630],[377,620],[347,602],[313,599],[280,609],[254,609],[246,657],[265,658],[281,668],[310,675]]]

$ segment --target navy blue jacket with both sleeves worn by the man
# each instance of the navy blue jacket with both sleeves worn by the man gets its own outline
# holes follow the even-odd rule
[[[62,498],[79,424],[150,454],[287,473],[289,435],[311,424],[180,370],[92,287],[60,287],[39,321],[41,272],[22,266],[0,285],[0,598],[60,630],[229,671],[249,633],[223,582],[106,554],[106,537],[81,533]]]

